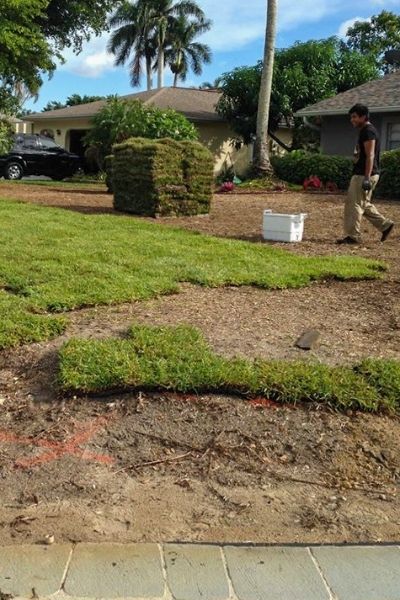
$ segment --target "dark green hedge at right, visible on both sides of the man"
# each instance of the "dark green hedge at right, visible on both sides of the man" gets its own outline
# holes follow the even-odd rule
[[[316,175],[326,184],[333,182],[340,190],[347,189],[353,170],[353,162],[345,156],[312,154],[294,150],[284,156],[271,157],[275,174],[289,183],[303,184]],[[384,152],[381,157],[381,178],[376,195],[400,198],[400,150]]]

